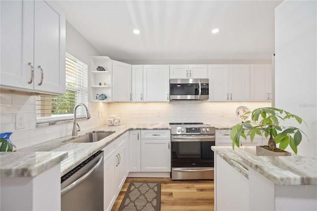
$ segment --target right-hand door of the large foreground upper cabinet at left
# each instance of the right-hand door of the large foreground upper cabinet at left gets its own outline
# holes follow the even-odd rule
[[[65,93],[65,15],[54,2],[34,2],[34,89]]]

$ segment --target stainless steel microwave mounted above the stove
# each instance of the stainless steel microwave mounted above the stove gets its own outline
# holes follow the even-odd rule
[[[209,79],[169,79],[169,99],[208,100]]]

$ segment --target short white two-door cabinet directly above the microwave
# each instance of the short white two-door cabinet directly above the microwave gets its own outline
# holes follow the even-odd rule
[[[208,65],[207,64],[169,65],[169,78],[170,79],[208,78]]]

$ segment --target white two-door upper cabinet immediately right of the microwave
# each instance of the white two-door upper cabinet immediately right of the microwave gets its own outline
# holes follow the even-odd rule
[[[250,65],[208,66],[209,101],[250,101]]]

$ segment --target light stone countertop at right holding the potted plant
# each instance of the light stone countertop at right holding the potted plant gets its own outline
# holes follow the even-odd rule
[[[291,156],[257,156],[256,147],[214,146],[211,149],[233,168],[249,177],[252,168],[276,185],[317,185],[317,159]]]

